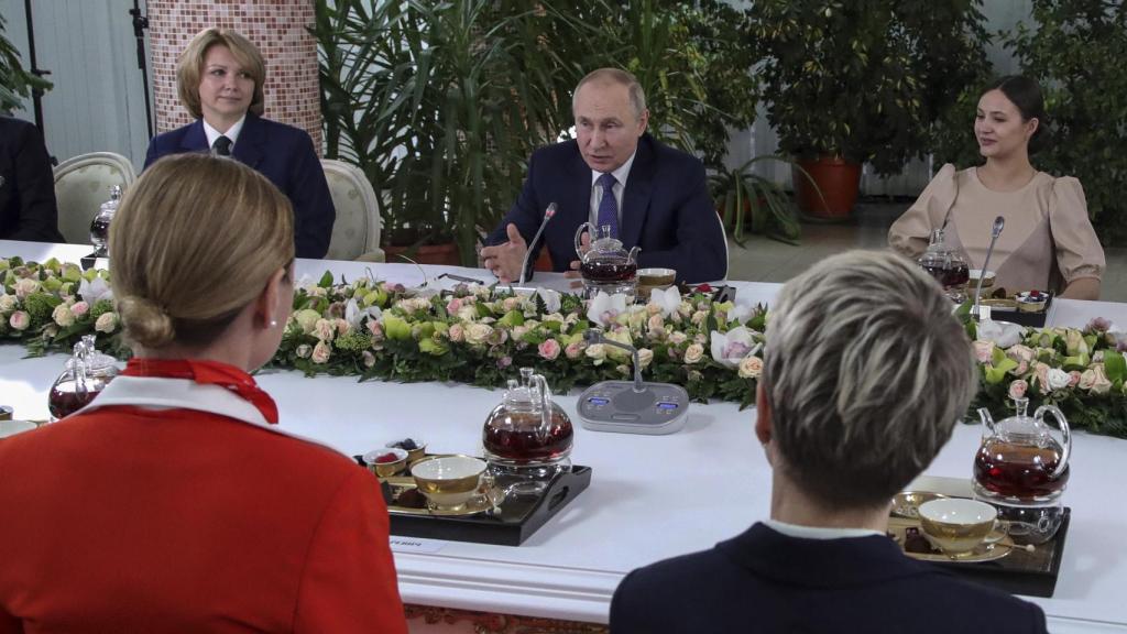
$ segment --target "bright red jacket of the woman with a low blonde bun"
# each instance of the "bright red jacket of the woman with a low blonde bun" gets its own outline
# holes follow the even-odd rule
[[[0,513],[3,634],[407,632],[375,478],[245,421],[110,405],[0,440]]]

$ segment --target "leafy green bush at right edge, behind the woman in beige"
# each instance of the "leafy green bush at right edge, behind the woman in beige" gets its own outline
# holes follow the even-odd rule
[[[1084,185],[1100,239],[1127,241],[1127,5],[1032,0],[1033,25],[1005,34],[1022,72],[1045,91],[1053,135],[1032,157],[1041,170]]]

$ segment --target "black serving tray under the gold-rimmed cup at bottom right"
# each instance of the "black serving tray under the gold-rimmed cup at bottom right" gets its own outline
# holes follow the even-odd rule
[[[1061,573],[1061,558],[1068,535],[1072,509],[1065,507],[1061,528],[1053,539],[1038,544],[1032,553],[1014,548],[1009,555],[990,562],[929,562],[966,580],[992,585],[1013,595],[1051,597]]]

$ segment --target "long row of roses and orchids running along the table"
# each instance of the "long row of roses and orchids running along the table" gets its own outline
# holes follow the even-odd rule
[[[0,258],[0,340],[29,355],[70,351],[85,334],[124,359],[106,271]],[[520,367],[535,367],[561,390],[633,373],[631,356],[589,344],[584,333],[638,349],[646,377],[682,385],[704,402],[746,407],[763,361],[766,309],[717,302],[706,292],[657,291],[645,305],[621,296],[459,285],[440,292],[362,278],[299,283],[293,314],[272,363],[308,376],[361,380],[456,381],[497,387]],[[968,322],[980,372],[971,404],[996,412],[1013,396],[1053,403],[1074,429],[1127,438],[1127,334],[1104,319],[1076,328],[1010,328]],[[973,416],[973,420],[977,417]]]

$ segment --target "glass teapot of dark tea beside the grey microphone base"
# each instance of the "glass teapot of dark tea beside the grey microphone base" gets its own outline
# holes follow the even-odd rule
[[[550,476],[550,467],[568,464],[574,435],[571,419],[552,400],[544,377],[521,368],[521,382],[509,379],[502,403],[486,419],[481,443],[490,466]]]

